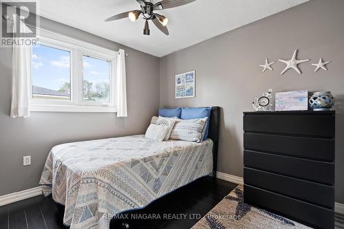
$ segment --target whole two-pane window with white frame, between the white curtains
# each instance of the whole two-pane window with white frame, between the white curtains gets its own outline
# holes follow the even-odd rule
[[[116,112],[116,56],[42,31],[32,47],[30,111]]]

